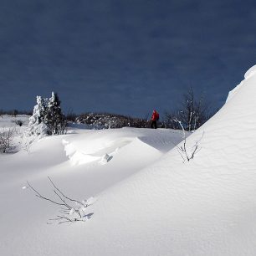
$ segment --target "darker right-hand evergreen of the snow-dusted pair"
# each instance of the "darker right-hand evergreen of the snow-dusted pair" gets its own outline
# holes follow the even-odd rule
[[[48,126],[50,135],[59,135],[65,132],[66,120],[62,114],[59,96],[54,92],[49,98],[44,123]]]

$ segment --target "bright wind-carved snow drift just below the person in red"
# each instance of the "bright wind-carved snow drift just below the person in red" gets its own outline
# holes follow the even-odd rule
[[[113,157],[124,155],[131,149],[138,153],[150,153],[160,156],[162,152],[170,150],[177,141],[181,140],[179,132],[166,133],[165,131],[148,130],[145,134],[140,129],[115,129],[104,131],[88,131],[85,135],[65,137],[62,141],[66,156],[71,165],[84,165],[98,162],[101,165],[108,163]],[[132,157],[132,156],[131,156]]]

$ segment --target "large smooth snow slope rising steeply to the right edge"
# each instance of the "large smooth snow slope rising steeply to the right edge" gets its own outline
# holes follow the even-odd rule
[[[203,135],[193,161],[182,164],[172,150],[101,195],[94,206],[100,222],[92,220],[95,233],[112,234],[95,254],[114,253],[110,244],[121,255],[256,254],[254,70],[188,138],[192,148]]]

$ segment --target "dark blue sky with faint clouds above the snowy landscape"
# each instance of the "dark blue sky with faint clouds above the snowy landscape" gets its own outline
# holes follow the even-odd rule
[[[0,109],[145,116],[190,87],[213,107],[255,64],[255,0],[0,0]]]

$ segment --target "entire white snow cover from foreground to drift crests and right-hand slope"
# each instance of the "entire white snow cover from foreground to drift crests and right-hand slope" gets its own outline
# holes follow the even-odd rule
[[[255,256],[255,95],[256,66],[188,136],[191,161],[181,131],[134,128],[69,129],[0,156],[0,255]],[[23,189],[54,197],[48,176],[90,198],[86,222],[49,222],[58,207]]]

